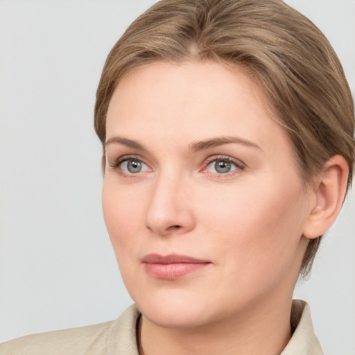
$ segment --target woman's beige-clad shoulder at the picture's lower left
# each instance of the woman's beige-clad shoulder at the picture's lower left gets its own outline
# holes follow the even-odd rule
[[[139,311],[130,306],[111,322],[23,336],[0,344],[0,355],[101,355],[112,340],[133,338]],[[119,331],[120,334],[117,333]]]

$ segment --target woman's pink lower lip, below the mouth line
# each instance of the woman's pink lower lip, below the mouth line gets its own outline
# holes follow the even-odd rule
[[[209,263],[146,263],[146,272],[157,279],[174,280],[205,268]]]

